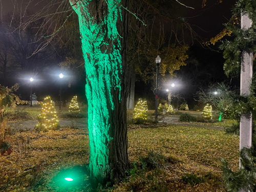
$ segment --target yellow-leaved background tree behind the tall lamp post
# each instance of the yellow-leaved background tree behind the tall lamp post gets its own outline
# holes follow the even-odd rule
[[[155,89],[156,63],[155,58],[160,55],[160,84],[165,79],[172,77],[175,70],[185,65],[188,46],[185,43],[184,30],[191,30],[193,36],[196,34],[185,22],[180,19],[177,8],[181,6],[176,1],[132,1],[130,10],[139,15],[143,21],[131,17],[129,22],[129,93],[127,97],[127,108],[134,109],[135,81],[141,80],[145,84],[152,84]],[[166,11],[168,8],[168,11]],[[195,37],[194,36],[194,37]],[[168,76],[167,76],[168,75]]]

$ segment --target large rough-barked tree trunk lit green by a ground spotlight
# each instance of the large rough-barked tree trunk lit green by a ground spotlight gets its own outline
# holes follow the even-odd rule
[[[79,18],[86,68],[90,170],[100,182],[124,176],[127,157],[127,0],[70,0]]]

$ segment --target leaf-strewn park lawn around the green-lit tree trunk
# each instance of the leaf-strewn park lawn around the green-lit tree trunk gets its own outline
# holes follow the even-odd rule
[[[158,124],[134,124],[129,112],[127,177],[114,186],[92,186],[85,168],[89,136],[82,111],[74,115],[68,108],[57,109],[64,122],[60,129],[37,132],[26,125],[36,123],[39,107],[9,110],[13,153],[0,156],[0,191],[226,191],[221,158],[238,169],[239,136],[223,130],[231,120],[180,123],[183,112],[178,112],[160,115]],[[153,111],[148,118],[154,119]]]

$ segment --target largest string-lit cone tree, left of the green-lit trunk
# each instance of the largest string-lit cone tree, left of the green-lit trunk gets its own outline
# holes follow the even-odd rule
[[[59,120],[51,97],[47,96],[42,102],[41,106],[41,114],[38,116],[36,129],[44,131],[56,130],[59,126]]]

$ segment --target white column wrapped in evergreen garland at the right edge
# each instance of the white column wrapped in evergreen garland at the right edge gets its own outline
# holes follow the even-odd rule
[[[241,28],[247,30],[251,27],[252,21],[246,13],[241,14]],[[248,96],[250,94],[250,84],[252,78],[252,53],[243,51],[241,63],[240,94]],[[243,147],[252,145],[252,115],[242,114],[240,120],[240,150]],[[247,192],[241,189],[240,192]]]

